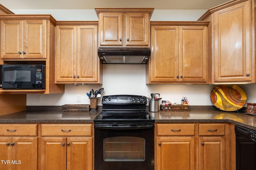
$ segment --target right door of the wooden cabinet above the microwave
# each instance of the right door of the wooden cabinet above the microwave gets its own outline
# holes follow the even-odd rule
[[[24,59],[45,59],[46,39],[46,20],[24,20]]]

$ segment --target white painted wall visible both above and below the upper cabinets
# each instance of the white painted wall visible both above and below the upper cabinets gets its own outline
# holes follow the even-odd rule
[[[58,21],[97,21],[95,10],[12,10],[15,14],[51,14]],[[151,21],[195,21],[206,10],[154,10]],[[102,95],[136,94],[148,96],[150,93],[160,93],[163,100],[180,104],[186,96],[190,105],[213,105],[210,92],[215,85],[188,84],[156,84],[146,85],[145,65],[108,64],[103,66],[103,84],[65,86],[64,94],[27,94],[27,106],[61,106],[64,104],[89,104],[86,92],[93,88],[103,87]],[[248,102],[256,102],[256,84],[240,85],[247,93]],[[81,95],[81,102],[76,102],[76,96]],[[38,102],[37,96],[40,96]],[[98,104],[101,105],[101,99]]]

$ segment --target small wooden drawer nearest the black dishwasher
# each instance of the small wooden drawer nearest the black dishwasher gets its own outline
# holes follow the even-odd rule
[[[225,135],[225,124],[199,124],[199,136]]]

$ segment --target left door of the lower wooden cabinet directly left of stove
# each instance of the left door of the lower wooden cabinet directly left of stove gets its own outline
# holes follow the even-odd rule
[[[66,138],[42,137],[41,169],[66,169]]]

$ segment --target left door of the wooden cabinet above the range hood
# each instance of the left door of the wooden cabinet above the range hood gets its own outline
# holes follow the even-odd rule
[[[102,12],[99,14],[99,46],[123,45],[123,14]],[[126,41],[126,40],[125,40]]]

